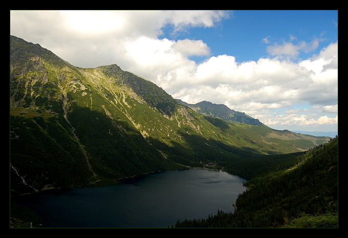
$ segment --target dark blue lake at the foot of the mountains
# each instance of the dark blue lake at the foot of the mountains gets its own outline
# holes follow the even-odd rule
[[[104,187],[25,196],[17,203],[42,218],[43,227],[160,228],[178,220],[234,211],[244,178],[193,169],[155,173]]]

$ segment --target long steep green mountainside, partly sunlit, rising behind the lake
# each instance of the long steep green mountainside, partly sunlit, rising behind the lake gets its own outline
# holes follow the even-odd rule
[[[116,64],[80,68],[10,38],[13,193],[303,151],[328,139],[202,115]]]

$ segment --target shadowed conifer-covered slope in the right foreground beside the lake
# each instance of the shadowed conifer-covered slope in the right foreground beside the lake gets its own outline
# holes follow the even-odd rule
[[[338,138],[296,157],[291,168],[247,181],[234,212],[175,227],[338,227]]]

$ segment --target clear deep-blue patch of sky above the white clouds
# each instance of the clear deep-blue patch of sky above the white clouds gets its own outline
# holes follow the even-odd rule
[[[328,42],[338,40],[338,11],[232,11],[228,19],[222,20],[214,28],[192,28],[186,34],[173,37],[168,33],[162,37],[173,39],[203,40],[210,47],[211,55],[231,55],[236,61],[243,62],[267,57],[267,44],[263,41],[269,37],[270,42],[311,41],[313,38],[325,38],[314,52],[299,57],[308,58],[319,53]],[[168,28],[171,29],[170,26]],[[296,41],[295,40],[295,41]],[[202,60],[197,57],[197,61]]]

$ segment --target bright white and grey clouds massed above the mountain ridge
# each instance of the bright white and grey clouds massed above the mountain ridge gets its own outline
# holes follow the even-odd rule
[[[338,123],[338,42],[311,58],[322,39],[271,42],[268,57],[236,62],[210,56],[200,39],[163,38],[212,28],[228,11],[11,11],[10,33],[51,50],[79,67],[118,64],[188,103],[203,100],[243,111],[275,129]],[[195,62],[191,57],[205,57]]]

